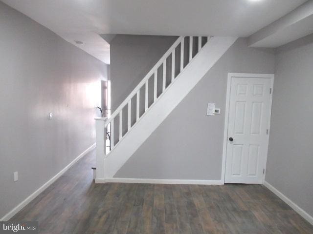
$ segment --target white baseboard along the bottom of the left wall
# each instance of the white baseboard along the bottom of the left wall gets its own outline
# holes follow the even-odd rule
[[[4,215],[0,221],[7,221],[16,215],[19,211],[21,211],[29,202],[31,202],[36,196],[42,193],[49,185],[51,185],[54,181],[56,181],[60,176],[62,176],[75,162],[77,162],[80,158],[87,155],[91,150],[95,148],[96,144],[91,145],[87,150],[77,156],[73,161],[71,161],[65,168],[63,168],[57,175],[53,176],[49,179],[43,186],[37,189],[34,193],[29,195],[25,200],[23,200],[19,205],[13,208],[9,213]]]

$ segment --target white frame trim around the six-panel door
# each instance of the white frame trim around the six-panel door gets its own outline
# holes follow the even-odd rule
[[[226,169],[226,150],[227,150],[227,134],[228,134],[228,117],[229,117],[229,103],[230,103],[230,88],[232,77],[244,77],[244,78],[270,78],[271,79],[271,95],[269,99],[269,112],[268,112],[268,139],[270,132],[270,116],[272,109],[272,98],[273,98],[273,84],[274,74],[250,74],[250,73],[228,73],[227,77],[227,91],[226,91],[226,105],[225,105],[225,123],[224,123],[224,140],[223,140],[223,157],[222,157],[222,176],[221,180],[225,182],[225,169]],[[268,91],[269,92],[269,91]],[[266,164],[268,159],[268,142],[266,145],[266,160],[265,160],[265,172],[263,174],[263,182],[266,174]]]

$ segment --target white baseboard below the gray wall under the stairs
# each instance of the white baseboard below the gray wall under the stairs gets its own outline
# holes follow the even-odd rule
[[[97,178],[95,183],[140,183],[140,184],[204,184],[221,185],[222,180],[198,180],[198,179],[135,179],[135,178]]]

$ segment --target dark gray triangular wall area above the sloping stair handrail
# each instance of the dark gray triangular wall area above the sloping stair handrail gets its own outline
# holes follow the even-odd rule
[[[114,37],[110,43],[112,113],[177,38],[143,35]]]

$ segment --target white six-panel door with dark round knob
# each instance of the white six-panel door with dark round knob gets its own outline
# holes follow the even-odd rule
[[[263,182],[271,81],[270,77],[231,77],[225,183]]]

